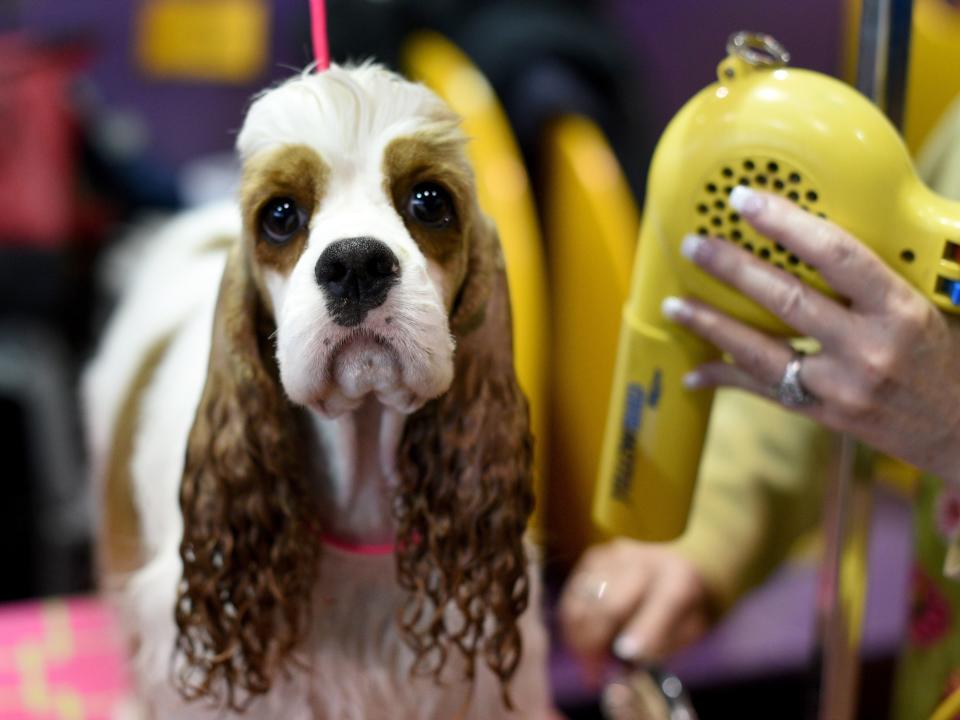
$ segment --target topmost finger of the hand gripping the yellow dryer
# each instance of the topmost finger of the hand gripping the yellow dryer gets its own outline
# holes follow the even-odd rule
[[[786,198],[738,185],[730,193],[730,206],[758,232],[816,268],[854,307],[881,307],[890,293],[911,290],[869,247]]]

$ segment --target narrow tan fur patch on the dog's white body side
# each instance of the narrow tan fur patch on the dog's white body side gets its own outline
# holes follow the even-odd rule
[[[97,559],[102,574],[108,578],[129,574],[143,564],[140,517],[133,502],[130,461],[144,392],[169,346],[170,339],[163,338],[144,355],[117,416],[103,488],[103,522],[97,538]]]

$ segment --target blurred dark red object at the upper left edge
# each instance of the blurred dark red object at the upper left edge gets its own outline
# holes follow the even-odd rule
[[[74,218],[78,56],[0,37],[0,244],[56,248]]]

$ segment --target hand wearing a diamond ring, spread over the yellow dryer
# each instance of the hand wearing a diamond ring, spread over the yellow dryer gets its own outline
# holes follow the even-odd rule
[[[960,481],[960,325],[836,225],[745,187],[731,193],[730,204],[849,299],[844,305],[828,298],[722,240],[684,239],[684,255],[698,267],[820,342],[821,351],[806,356],[799,373],[816,402],[794,409]],[[684,380],[689,388],[731,385],[770,397],[793,357],[783,339],[706,303],[668,298],[663,310],[733,359],[697,368]]]

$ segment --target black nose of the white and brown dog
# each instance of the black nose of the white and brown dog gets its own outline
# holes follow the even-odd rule
[[[337,324],[350,327],[387,299],[400,278],[400,261],[379,240],[348,238],[323,251],[316,274],[330,315]]]

